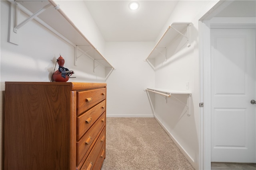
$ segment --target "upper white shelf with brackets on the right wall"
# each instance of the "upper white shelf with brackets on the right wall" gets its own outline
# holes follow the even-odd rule
[[[184,32],[186,29],[188,29],[188,26],[191,24],[191,22],[173,22],[164,32],[162,37],[159,39],[159,41],[156,43],[155,47],[152,49],[151,53],[146,58],[146,61],[148,59],[154,59],[156,58],[159,53],[162,55],[162,51],[166,49],[166,47],[178,36],[182,35],[187,38],[188,40],[188,31],[187,35],[184,35]],[[157,49],[159,48],[159,50]],[[165,56],[166,57],[166,56]]]

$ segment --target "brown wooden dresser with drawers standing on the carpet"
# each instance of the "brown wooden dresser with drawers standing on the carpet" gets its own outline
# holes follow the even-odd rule
[[[100,170],[106,83],[6,82],[4,170]]]

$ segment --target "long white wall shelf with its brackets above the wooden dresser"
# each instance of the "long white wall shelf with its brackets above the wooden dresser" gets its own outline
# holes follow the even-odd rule
[[[18,45],[19,36],[18,28],[22,27],[31,19],[38,21],[40,24],[48,28],[50,31],[64,39],[70,45],[75,47],[76,54],[74,56],[74,64],[82,55],[90,57],[94,60],[94,72],[96,64],[98,63],[105,67],[106,70],[114,70],[114,67],[104,58],[104,56],[88,41],[84,34],[68,19],[68,17],[62,12],[61,7],[55,4],[52,0],[9,0],[13,6],[13,14],[10,17],[12,28],[10,28],[10,43]],[[16,10],[15,10],[16,8]],[[27,20],[21,23],[16,23],[17,13],[21,10],[28,16]],[[40,14],[40,15],[39,15]],[[88,50],[88,48],[90,50]],[[78,50],[82,55],[78,56]],[[98,66],[98,65],[97,65]]]

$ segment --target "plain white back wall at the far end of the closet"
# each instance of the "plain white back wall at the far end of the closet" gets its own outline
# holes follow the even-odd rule
[[[153,42],[107,42],[106,57],[116,70],[107,79],[107,116],[153,117],[143,91],[154,86],[154,70],[144,60]]]

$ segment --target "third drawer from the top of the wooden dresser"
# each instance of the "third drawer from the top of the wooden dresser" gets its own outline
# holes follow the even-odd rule
[[[83,157],[88,156],[102,128],[105,126],[106,114],[103,113],[92,127],[84,134],[80,141],[76,142],[76,164],[78,165]],[[98,155],[98,154],[97,154]]]

